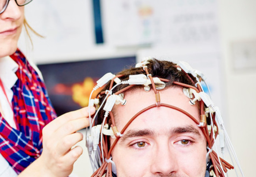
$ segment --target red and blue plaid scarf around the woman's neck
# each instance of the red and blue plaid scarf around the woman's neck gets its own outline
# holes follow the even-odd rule
[[[12,106],[17,129],[0,114],[0,153],[16,173],[22,172],[42,152],[42,128],[56,113],[45,84],[19,49],[10,56],[18,65],[18,80],[12,87]]]

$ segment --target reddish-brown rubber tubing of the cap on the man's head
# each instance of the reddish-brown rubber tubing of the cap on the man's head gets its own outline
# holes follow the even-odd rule
[[[177,67],[180,68],[179,66],[177,66]],[[218,135],[218,125],[217,125],[217,122],[216,122],[216,120],[215,120],[215,112],[214,112],[214,113],[211,113],[210,110],[209,110],[209,114],[211,114],[211,116],[212,116],[212,125],[213,125],[213,127],[215,126],[215,127],[217,128],[217,131],[216,131],[216,133],[213,133],[214,129],[211,127],[211,133],[210,133],[210,135],[209,135],[209,133],[208,133],[208,128],[207,128],[206,115],[205,115],[205,110],[204,110],[205,107],[204,107],[204,102],[203,102],[203,100],[199,101],[199,104],[200,104],[200,116],[201,116],[200,122],[203,123],[203,125],[202,125],[202,124],[200,124],[200,122],[199,122],[196,118],[194,118],[191,114],[189,114],[189,113],[186,112],[185,110],[182,110],[182,109],[180,109],[180,108],[178,108],[178,107],[176,107],[176,106],[173,106],[173,105],[161,103],[161,102],[160,102],[160,94],[159,94],[159,91],[156,90],[153,77],[151,76],[151,74],[149,74],[148,69],[147,69],[147,66],[144,65],[144,66],[143,66],[143,69],[144,69],[144,71],[146,72],[148,79],[150,79],[150,81],[151,81],[152,88],[153,88],[154,93],[155,93],[155,98],[156,98],[157,104],[150,105],[150,106],[148,106],[148,107],[146,107],[146,108],[140,110],[138,113],[136,113],[136,114],[128,121],[128,123],[124,126],[124,128],[121,130],[120,134],[123,135],[124,131],[128,128],[128,126],[132,123],[132,121],[133,121],[136,117],[138,117],[140,114],[142,114],[143,112],[145,112],[145,111],[147,111],[147,110],[149,110],[149,109],[151,109],[151,108],[156,108],[156,107],[158,107],[158,106],[165,106],[165,107],[167,107],[167,108],[175,109],[175,110],[177,110],[177,111],[179,111],[179,112],[181,112],[181,113],[187,115],[187,116],[188,116],[189,118],[191,118],[197,125],[200,125],[199,127],[200,127],[200,129],[202,130],[203,135],[204,135],[205,138],[206,138],[206,141],[207,141],[207,144],[208,144],[208,148],[210,149],[210,150],[209,150],[210,152],[208,152],[208,153],[209,153],[210,158],[211,158],[211,161],[212,161],[212,167],[213,167],[214,173],[215,173],[215,175],[216,175],[217,177],[225,177],[225,175],[224,175],[224,173],[223,173],[223,171],[222,171],[222,168],[223,168],[224,172],[226,173],[226,172],[227,172],[227,169],[226,169],[226,168],[228,168],[228,169],[234,169],[234,167],[233,167],[232,165],[230,165],[228,162],[226,162],[225,160],[223,160],[222,158],[220,158],[220,157],[218,158],[217,153],[212,150],[212,145],[214,144],[214,138],[216,139],[216,138],[217,138],[217,135]],[[193,81],[193,79],[192,79],[183,69],[181,69],[181,71],[182,71],[182,72],[189,78],[189,80],[191,80],[191,82],[195,85],[195,82]],[[114,79],[115,79],[115,78],[119,78],[119,77],[121,77],[121,76],[124,76],[124,75],[117,75],[117,76],[115,76],[115,77],[111,80],[109,90],[111,90],[112,87],[113,87]],[[162,79],[162,78],[159,78],[159,79],[160,79],[161,81],[163,81],[163,82],[169,82],[169,81],[170,81],[170,80],[168,80],[168,79]],[[202,80],[202,78],[200,77],[200,78],[199,78],[199,81],[201,81],[201,80]],[[191,86],[191,85],[189,85],[189,84],[184,84],[184,83],[180,83],[180,82],[175,82],[175,81],[173,82],[173,84],[176,84],[176,85],[179,85],[179,86],[185,87],[185,88],[194,89],[197,93],[202,92],[202,89],[201,89],[199,83],[196,84],[197,87]],[[124,89],[121,89],[121,90],[117,91],[117,92],[114,93],[114,94],[118,95],[118,94],[120,94],[120,93],[123,93],[124,91],[127,91],[128,89],[130,89],[130,88],[133,87],[133,86],[135,86],[135,85],[129,85],[129,86],[125,87]],[[100,95],[105,94],[105,93],[106,93],[106,91],[103,91],[103,92],[100,93]],[[111,121],[112,121],[111,127],[112,127],[112,129],[113,129],[114,135],[116,136],[116,139],[114,140],[114,142],[113,142],[112,146],[110,147],[109,151],[108,151],[108,143],[107,143],[108,141],[107,141],[107,139],[106,139],[106,138],[107,138],[107,135],[104,135],[104,138],[102,139],[103,151],[104,151],[103,154],[104,154],[104,157],[107,157],[108,159],[111,158],[111,153],[112,153],[112,151],[113,151],[113,148],[116,146],[118,140],[121,138],[121,136],[118,136],[118,135],[117,135],[117,132],[118,132],[117,129],[114,128],[114,127],[116,127],[116,126],[115,126],[115,123],[114,123],[114,116],[113,116],[113,113],[112,113],[112,112],[110,112],[110,118],[111,118]],[[102,126],[103,126],[103,125],[105,125],[105,123],[102,124]],[[116,130],[114,130],[114,129],[116,129]],[[214,137],[213,135],[215,135],[215,137]],[[100,145],[100,143],[99,143],[99,145]],[[103,157],[101,157],[101,158],[103,158]],[[221,163],[221,164],[220,164],[220,163]],[[222,166],[222,168],[221,168],[221,166]],[[106,168],[107,168],[107,169],[106,169]],[[112,177],[112,163],[104,161],[103,164],[101,165],[101,167],[99,167],[99,169],[97,169],[97,170],[93,173],[92,177],[98,177],[98,176],[102,177],[104,173],[106,173],[106,177]]]

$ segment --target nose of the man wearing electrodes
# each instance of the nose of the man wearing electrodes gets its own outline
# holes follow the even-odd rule
[[[175,152],[169,143],[158,144],[152,154],[151,173],[159,176],[169,176],[178,171],[178,162]]]

